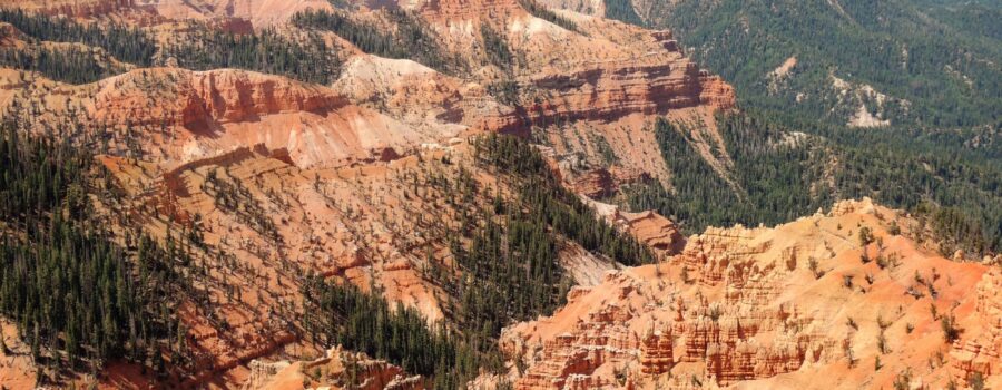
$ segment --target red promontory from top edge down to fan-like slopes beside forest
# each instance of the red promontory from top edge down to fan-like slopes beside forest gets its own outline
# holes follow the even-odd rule
[[[628,168],[667,185],[670,172],[646,129],[664,116],[699,118],[713,129],[714,113],[735,107],[733,88],[686,58],[670,31],[553,10],[567,21],[558,25],[514,0],[401,4],[419,12],[483,88],[515,90],[507,101],[515,125],[505,130],[547,139],[560,159],[581,155],[595,168]],[[490,61],[484,28],[504,41],[510,65]]]

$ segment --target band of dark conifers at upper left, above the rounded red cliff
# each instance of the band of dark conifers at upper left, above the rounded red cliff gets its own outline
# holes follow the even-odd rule
[[[79,42],[101,48],[120,61],[139,67],[163,65],[170,58],[193,70],[238,68],[286,76],[306,82],[328,84],[340,71],[340,59],[328,52],[315,32],[282,35],[275,29],[234,33],[193,23],[189,31],[166,45],[138,28],[118,23],[81,25],[62,17],[0,10],[9,22],[37,41]],[[159,51],[158,51],[159,50]],[[101,64],[91,50],[67,46],[0,49],[0,66],[39,71],[71,82],[92,82],[125,70]]]

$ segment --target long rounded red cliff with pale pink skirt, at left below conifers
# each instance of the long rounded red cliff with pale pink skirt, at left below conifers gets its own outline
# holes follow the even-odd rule
[[[235,69],[138,69],[90,85],[7,95],[0,104],[11,115],[50,125],[75,117],[82,130],[109,139],[108,152],[129,150],[167,166],[257,144],[288,150],[303,167],[341,166],[456,133],[407,126],[327,87]]]

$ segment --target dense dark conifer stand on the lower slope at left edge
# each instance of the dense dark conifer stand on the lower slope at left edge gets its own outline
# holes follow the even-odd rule
[[[66,142],[0,126],[0,315],[31,355],[59,374],[124,359],[161,379],[180,365],[186,331],[175,312],[184,256],[145,234],[117,240],[91,196],[112,196],[107,173]]]

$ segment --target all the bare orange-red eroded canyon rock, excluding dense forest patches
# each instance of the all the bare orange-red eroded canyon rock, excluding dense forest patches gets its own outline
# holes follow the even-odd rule
[[[658,119],[701,124],[689,135],[692,147],[718,170],[733,165],[716,121],[739,111],[736,92],[685,56],[671,31],[597,16],[605,4],[586,13],[540,12],[515,0],[347,4],[351,20],[390,30],[402,26],[390,12],[405,12],[465,69],[379,57],[333,31],[310,31],[337,62],[326,84],[185,69],[157,56],[143,67],[81,42],[71,45],[92,50],[115,75],[71,84],[0,67],[4,121],[87,148],[107,172],[120,198],[89,202],[117,242],[136,230],[176,241],[194,259],[185,273],[198,294],[180,296],[176,315],[189,365],[161,383],[143,364],[110,361],[99,376],[57,372],[61,384],[430,387],[404,363],[311,337],[306,276],[354,285],[415,310],[429,328],[459,332],[456,287],[439,274],[465,277],[455,246],[470,240],[458,235],[479,215],[465,207],[497,214],[497,204],[519,204],[524,191],[483,163],[479,142],[501,135],[531,140],[553,187],[573,194],[567,202],[639,242],[654,264],[628,266],[557,223],[543,225],[573,286],[552,313],[505,324],[494,341],[501,369],[481,368],[468,388],[890,388],[902,380],[943,388],[975,377],[1002,387],[1002,259],[944,257],[920,243],[931,233],[916,216],[862,198],[774,227],[686,237],[671,216],[617,204],[633,185],[675,185],[679,173],[652,129]],[[163,50],[174,35],[203,26],[196,22],[296,41],[306,33],[291,22],[298,12],[344,7],[16,0],[0,8],[126,23]],[[491,59],[484,31],[500,37],[510,64]],[[0,48],[60,45],[69,43],[0,23]],[[316,66],[335,68],[334,60]],[[861,243],[864,230],[872,240]],[[944,339],[946,324],[962,331]],[[17,323],[0,325],[9,347],[0,351],[0,382],[33,388],[51,370],[29,359]]]

